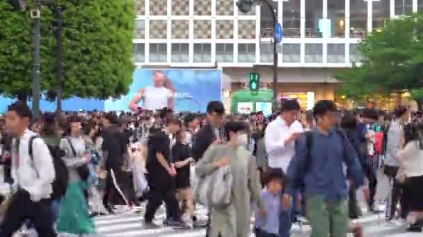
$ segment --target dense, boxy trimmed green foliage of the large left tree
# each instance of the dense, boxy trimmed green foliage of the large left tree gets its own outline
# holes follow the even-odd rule
[[[63,12],[63,98],[117,98],[132,82],[133,0],[56,0]],[[30,4],[31,6],[31,4]],[[41,89],[56,95],[55,15],[41,11]],[[0,1],[0,90],[31,96],[33,21]]]

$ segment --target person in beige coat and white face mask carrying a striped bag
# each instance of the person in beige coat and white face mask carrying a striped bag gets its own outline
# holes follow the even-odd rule
[[[226,209],[210,209],[209,237],[248,237],[250,236],[250,206],[257,204],[261,214],[266,214],[266,206],[261,198],[261,185],[255,158],[246,150],[246,126],[240,122],[225,125],[228,143],[212,145],[198,161],[195,173],[204,177],[219,167],[230,165],[234,184],[232,204]]]

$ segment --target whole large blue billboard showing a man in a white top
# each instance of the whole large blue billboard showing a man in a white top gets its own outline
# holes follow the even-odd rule
[[[128,111],[136,107],[159,109],[163,105],[170,105],[177,112],[205,112],[209,101],[221,100],[221,78],[222,72],[218,69],[136,69],[129,93],[120,99],[74,97],[63,100],[62,106],[65,111]],[[0,96],[0,111],[5,112],[13,102],[10,98]],[[56,102],[40,100],[40,109],[54,111]]]

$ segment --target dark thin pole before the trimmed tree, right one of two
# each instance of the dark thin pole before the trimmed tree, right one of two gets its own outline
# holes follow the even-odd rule
[[[57,44],[57,55],[56,55],[56,98],[57,98],[57,112],[62,112],[62,78],[63,78],[63,67],[62,67],[62,55],[63,55],[63,44],[62,44],[62,8],[60,6],[54,6],[56,12],[56,44]]]

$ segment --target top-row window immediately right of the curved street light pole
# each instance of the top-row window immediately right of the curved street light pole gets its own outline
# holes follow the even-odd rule
[[[282,5],[282,27],[284,37],[301,37],[301,1],[282,1]]]

